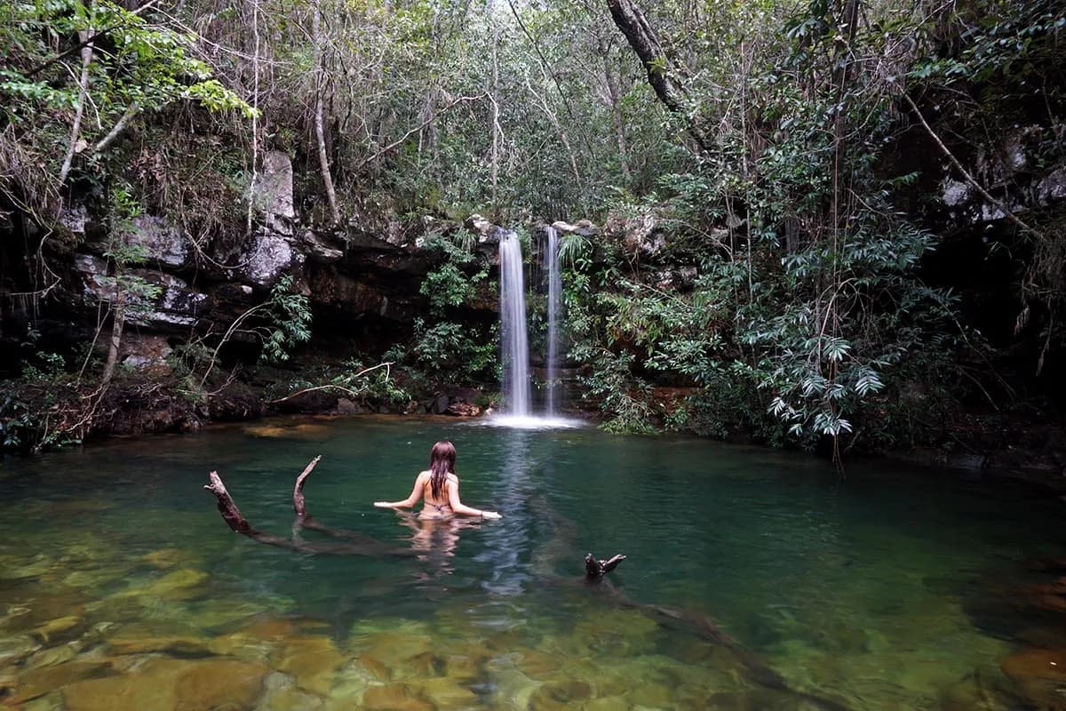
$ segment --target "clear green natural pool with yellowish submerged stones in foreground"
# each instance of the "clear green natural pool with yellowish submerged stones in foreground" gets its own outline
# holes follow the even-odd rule
[[[423,530],[372,507],[409,492],[438,439],[458,449],[464,501],[502,521]],[[258,529],[332,540],[292,529],[293,480],[318,454],[316,518],[414,555],[263,546],[201,488],[216,469]],[[1010,591],[1040,582],[1027,561],[1066,554],[1064,505],[949,472],[854,464],[840,481],[781,452],[443,419],[9,460],[0,707],[1029,708],[1019,689],[1053,700],[1066,683],[1051,669],[1019,686],[1001,665],[1024,650],[1048,666],[1057,652],[1032,650],[1066,647],[1064,617]],[[588,551],[628,554],[609,576],[620,596],[580,584]]]

